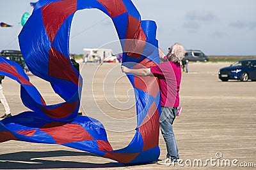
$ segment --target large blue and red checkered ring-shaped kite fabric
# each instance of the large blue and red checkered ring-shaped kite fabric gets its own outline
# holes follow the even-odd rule
[[[31,73],[49,81],[65,102],[47,105],[22,67],[0,57],[0,74],[20,83],[22,103],[29,108],[0,121],[0,142],[58,144],[122,164],[154,162],[160,154],[157,78],[127,74],[136,91],[137,128],[125,148],[113,150],[104,125],[92,117],[77,116],[83,80],[69,59],[69,33],[74,13],[90,8],[103,11],[113,20],[122,45],[124,65],[140,68],[159,63],[156,23],[141,20],[130,0],[38,1],[19,34],[20,50]]]

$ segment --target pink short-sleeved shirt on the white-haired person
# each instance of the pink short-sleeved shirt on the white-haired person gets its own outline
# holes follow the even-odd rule
[[[178,107],[181,80],[179,62],[166,61],[150,67],[150,71],[159,79],[161,106]]]

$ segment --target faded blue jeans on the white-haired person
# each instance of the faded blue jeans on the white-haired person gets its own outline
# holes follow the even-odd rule
[[[169,108],[161,106],[160,127],[166,143],[167,154],[173,162],[179,159],[179,150],[173,133],[173,120],[177,115],[177,108]]]

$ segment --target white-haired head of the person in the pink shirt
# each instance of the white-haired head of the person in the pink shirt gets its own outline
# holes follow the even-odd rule
[[[175,43],[168,50],[167,57],[172,62],[181,62],[186,53],[186,49],[180,43]]]

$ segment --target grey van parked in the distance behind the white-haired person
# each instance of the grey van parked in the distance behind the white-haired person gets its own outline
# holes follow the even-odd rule
[[[188,61],[209,61],[209,57],[201,50],[186,50],[183,60]]]

